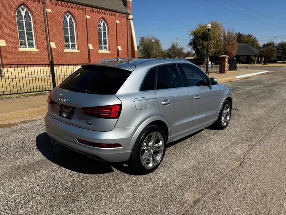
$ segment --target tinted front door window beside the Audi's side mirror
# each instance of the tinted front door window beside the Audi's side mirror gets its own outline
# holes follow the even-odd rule
[[[178,64],[178,66],[184,72],[188,86],[208,85],[206,75],[198,68],[188,64]]]

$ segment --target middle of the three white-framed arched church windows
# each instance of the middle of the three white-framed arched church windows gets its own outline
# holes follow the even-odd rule
[[[65,49],[76,50],[75,21],[69,13],[64,15],[62,24],[64,27]]]

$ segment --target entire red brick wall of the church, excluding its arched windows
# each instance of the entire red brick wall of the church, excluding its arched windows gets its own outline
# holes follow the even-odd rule
[[[39,52],[20,52],[16,23],[16,10],[24,4],[32,14],[36,49]],[[131,2],[129,2],[131,7]],[[0,47],[3,64],[46,64],[48,52],[45,37],[44,16],[41,0],[0,0],[0,39],[4,39],[6,46]],[[113,11],[86,7],[59,0],[46,0],[47,22],[49,28],[49,42],[54,42],[56,48],[51,48],[51,57],[55,64],[88,63],[102,59],[127,57],[127,29],[126,14]],[[76,42],[79,53],[64,52],[62,19],[69,12],[75,21]],[[90,19],[86,18],[90,16]],[[99,53],[98,21],[104,18],[108,25],[108,47],[110,53]],[[5,20],[5,21],[4,21]],[[120,23],[116,23],[119,20]],[[131,37],[131,26],[128,21],[129,57],[134,57],[134,45]],[[88,49],[92,44],[93,50]],[[121,46],[117,51],[117,46]]]

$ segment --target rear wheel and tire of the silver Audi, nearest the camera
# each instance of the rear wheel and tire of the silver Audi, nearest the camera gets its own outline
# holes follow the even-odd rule
[[[148,125],[139,134],[131,152],[131,167],[142,174],[153,172],[161,164],[166,151],[164,131],[157,125]]]

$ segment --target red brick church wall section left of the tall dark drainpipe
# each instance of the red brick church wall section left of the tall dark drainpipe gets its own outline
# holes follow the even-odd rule
[[[17,31],[16,11],[24,4],[33,19],[35,44],[39,52],[19,51],[19,36]],[[1,46],[2,64],[46,64],[48,51],[46,45],[44,16],[40,0],[0,0],[1,31],[6,46]]]

